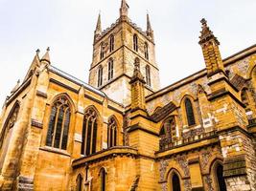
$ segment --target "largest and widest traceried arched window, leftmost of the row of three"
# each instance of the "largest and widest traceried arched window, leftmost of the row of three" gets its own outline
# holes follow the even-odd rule
[[[65,96],[59,96],[52,106],[46,145],[66,150],[69,123],[71,117],[70,103]]]

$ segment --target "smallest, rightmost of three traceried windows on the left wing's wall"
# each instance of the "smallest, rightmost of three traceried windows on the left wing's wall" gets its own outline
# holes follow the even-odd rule
[[[107,147],[116,146],[117,139],[117,122],[114,117],[108,120],[107,125]]]

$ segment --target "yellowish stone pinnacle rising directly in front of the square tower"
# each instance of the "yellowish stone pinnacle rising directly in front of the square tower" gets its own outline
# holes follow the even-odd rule
[[[146,109],[145,80],[140,72],[140,60],[135,58],[133,76],[129,82],[131,86],[131,110]]]

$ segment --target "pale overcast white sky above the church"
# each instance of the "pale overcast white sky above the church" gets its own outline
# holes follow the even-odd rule
[[[35,55],[51,48],[52,64],[87,82],[98,12],[103,29],[121,0],[0,0],[0,104],[23,79]],[[129,17],[146,28],[151,15],[162,87],[205,67],[198,45],[205,17],[222,58],[256,42],[255,0],[128,0]]]

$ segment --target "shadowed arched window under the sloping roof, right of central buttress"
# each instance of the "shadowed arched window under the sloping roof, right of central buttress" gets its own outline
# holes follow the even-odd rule
[[[167,118],[160,130],[160,150],[164,150],[169,147],[169,144],[173,143],[176,138],[176,123],[175,117]]]

